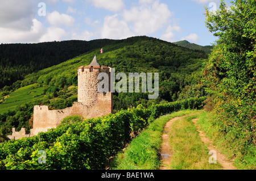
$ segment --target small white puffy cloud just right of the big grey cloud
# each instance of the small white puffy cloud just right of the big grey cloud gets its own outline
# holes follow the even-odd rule
[[[60,14],[58,11],[53,11],[47,14],[47,21],[51,26],[74,26],[75,19],[67,14]]]

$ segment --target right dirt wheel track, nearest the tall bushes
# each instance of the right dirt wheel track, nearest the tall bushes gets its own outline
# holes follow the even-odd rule
[[[216,151],[217,162],[221,164],[223,170],[237,170],[236,167],[234,167],[233,164],[229,162],[228,159],[226,159],[225,155],[221,154],[220,151],[216,149],[216,146],[214,146],[213,142],[210,141],[208,137],[205,136],[205,133],[199,129],[199,126],[197,125],[197,120],[198,119],[192,119],[193,123],[196,126],[197,131],[199,132],[199,136],[201,140],[204,142],[204,144],[208,145],[207,148],[209,151],[210,150]]]

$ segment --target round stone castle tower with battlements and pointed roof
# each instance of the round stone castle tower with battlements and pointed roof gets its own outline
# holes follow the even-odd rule
[[[77,70],[78,90],[77,101],[85,106],[93,106],[97,104],[98,100],[98,74],[101,72],[107,73],[110,80],[110,68],[108,66],[101,66],[96,56],[94,56],[92,63],[88,66],[80,66]],[[110,87],[110,83],[109,83]],[[110,89],[109,89],[110,91]],[[102,93],[103,94],[103,93]]]

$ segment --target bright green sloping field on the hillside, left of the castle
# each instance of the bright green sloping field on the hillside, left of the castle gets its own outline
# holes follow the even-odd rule
[[[17,106],[30,102],[33,99],[43,97],[43,87],[38,87],[35,83],[33,85],[22,87],[14,92],[11,92],[10,96],[7,96],[5,102],[0,104],[0,113],[7,111],[13,111]]]

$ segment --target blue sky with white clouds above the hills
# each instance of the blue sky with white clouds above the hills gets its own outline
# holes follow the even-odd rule
[[[230,1],[228,5],[230,5]],[[146,35],[210,45],[204,6],[220,0],[1,0],[0,43],[125,39]]]

